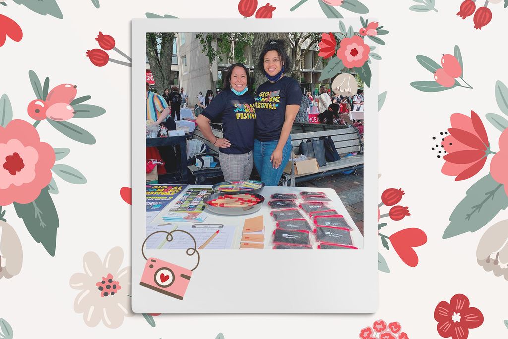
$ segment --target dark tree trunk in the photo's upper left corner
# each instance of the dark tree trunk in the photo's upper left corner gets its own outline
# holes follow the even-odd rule
[[[175,33],[147,33],[146,55],[155,81],[157,93],[162,94],[165,88],[171,88],[171,63],[173,60],[173,39]],[[157,45],[161,44],[161,53]]]

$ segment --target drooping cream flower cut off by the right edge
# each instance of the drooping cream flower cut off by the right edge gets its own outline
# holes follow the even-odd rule
[[[508,220],[492,225],[483,234],[477,248],[478,263],[496,277],[508,280]]]

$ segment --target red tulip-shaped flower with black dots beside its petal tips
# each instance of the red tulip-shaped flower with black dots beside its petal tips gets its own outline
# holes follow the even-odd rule
[[[480,172],[487,161],[487,150],[490,147],[487,132],[480,117],[471,111],[469,118],[463,114],[453,114],[451,135],[441,141],[446,162],[441,167],[441,173],[457,177],[455,181],[466,180]]]

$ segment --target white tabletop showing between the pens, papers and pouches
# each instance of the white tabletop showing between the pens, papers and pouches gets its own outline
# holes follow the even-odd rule
[[[189,185],[188,187],[200,187],[200,188],[211,188],[211,185]],[[225,225],[235,225],[236,231],[235,231],[235,238],[233,240],[233,248],[232,249],[239,249],[240,248],[240,239],[242,236],[242,228],[243,228],[243,221],[245,218],[252,218],[257,217],[260,215],[264,216],[264,223],[265,223],[265,243],[264,243],[264,249],[272,249],[273,248],[273,236],[272,233],[275,230],[275,220],[272,216],[270,216],[270,212],[272,211],[270,207],[268,206],[268,201],[270,201],[270,196],[274,193],[295,193],[299,196],[299,193],[302,191],[312,191],[312,192],[325,192],[327,196],[332,200],[328,201],[327,204],[334,210],[336,210],[339,214],[344,216],[344,219],[346,219],[347,223],[353,228],[351,231],[351,239],[353,240],[353,245],[359,249],[363,248],[363,235],[360,233],[360,230],[356,226],[355,222],[353,221],[353,218],[351,218],[350,214],[347,212],[344,204],[342,204],[342,201],[340,200],[339,196],[335,192],[335,190],[331,188],[308,188],[308,187],[274,187],[274,186],[266,186],[261,191],[261,195],[265,197],[265,201],[263,202],[263,206],[261,207],[261,210],[259,210],[256,213],[252,214],[246,214],[242,216],[224,216],[224,215],[217,215],[208,213],[205,209],[204,213],[207,215],[207,218],[205,219],[204,223],[206,224],[225,224]],[[165,223],[163,221],[162,217],[166,212],[174,205],[175,201],[178,200],[178,197],[174,199],[173,201],[166,206],[164,210],[161,211],[160,214],[158,214],[153,220],[152,224],[161,224]],[[298,200],[297,204],[300,204],[302,201]],[[307,219],[310,225],[312,225],[312,220],[306,217],[306,214],[304,211],[300,210],[300,213]],[[174,222],[175,226],[178,224],[189,224],[187,222]],[[318,243],[315,242],[314,236],[311,234],[310,236],[311,245],[313,249],[317,248]]]

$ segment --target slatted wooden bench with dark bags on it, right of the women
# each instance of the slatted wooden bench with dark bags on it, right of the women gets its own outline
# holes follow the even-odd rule
[[[333,162],[327,161],[327,164],[320,167],[317,172],[295,175],[295,183],[329,177],[334,174],[354,171],[355,169],[363,167],[363,145],[360,133],[356,127],[330,129],[319,132],[292,133],[291,142],[293,145],[293,152],[295,154],[299,153],[298,148],[302,141],[307,141],[307,139],[319,139],[321,137],[332,137],[335,149],[340,155],[340,160]],[[358,153],[356,155],[345,156],[351,152]],[[279,185],[288,186],[290,181],[291,175],[284,173]]]

